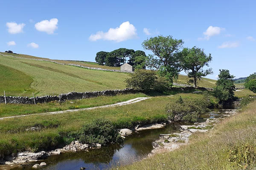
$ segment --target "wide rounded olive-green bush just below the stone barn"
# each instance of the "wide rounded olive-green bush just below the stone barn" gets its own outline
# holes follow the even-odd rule
[[[163,77],[157,77],[154,71],[137,69],[130,79],[126,79],[128,88],[139,89],[145,92],[168,91],[172,84]]]

